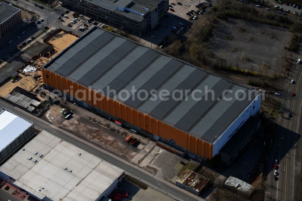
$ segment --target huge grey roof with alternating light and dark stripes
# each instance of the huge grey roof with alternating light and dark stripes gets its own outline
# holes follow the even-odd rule
[[[98,27],[89,30],[44,68],[82,86],[91,86],[95,91],[102,90],[104,94],[107,94],[109,86],[110,90],[117,91],[116,96],[110,93],[111,98],[210,143],[214,143],[258,95]],[[137,90],[146,90],[147,99],[133,98],[137,93],[127,100],[120,98],[125,97],[125,90],[130,91],[133,86]],[[153,89],[157,92],[151,94]],[[170,96],[167,101],[159,98],[154,100],[153,97],[159,97],[162,90],[170,93],[175,91],[176,99]],[[177,100],[180,97],[177,90],[191,92],[187,100]],[[205,93],[207,90],[210,92]],[[225,95],[225,98],[232,100],[222,98],[224,90],[233,91]],[[193,91],[197,92],[195,98],[201,100],[192,97]],[[243,100],[235,98],[235,95]],[[142,93],[140,96],[143,97]]]

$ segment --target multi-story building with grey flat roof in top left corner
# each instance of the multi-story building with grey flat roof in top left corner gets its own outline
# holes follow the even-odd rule
[[[19,8],[0,2],[0,38],[21,20],[21,10]]]

